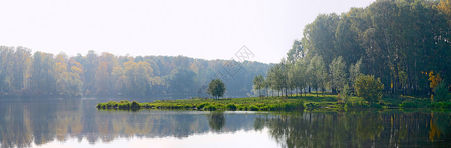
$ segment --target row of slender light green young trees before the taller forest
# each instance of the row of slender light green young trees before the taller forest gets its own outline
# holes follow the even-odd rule
[[[321,56],[313,56],[311,59],[301,58],[294,62],[288,62],[285,58],[280,63],[269,68],[266,78],[261,74],[254,77],[254,89],[268,89],[279,91],[288,96],[289,92],[311,89],[324,91],[329,88],[333,92],[341,92],[345,87],[353,86],[353,81],[361,73],[362,60],[351,64],[348,68],[343,57],[338,57],[328,66]],[[308,90],[307,90],[308,89]],[[268,95],[268,94],[266,94]]]

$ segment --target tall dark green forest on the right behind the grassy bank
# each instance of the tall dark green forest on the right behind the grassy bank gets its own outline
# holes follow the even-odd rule
[[[451,91],[451,0],[377,0],[320,14],[254,88],[340,92],[360,74],[379,78],[387,94]]]

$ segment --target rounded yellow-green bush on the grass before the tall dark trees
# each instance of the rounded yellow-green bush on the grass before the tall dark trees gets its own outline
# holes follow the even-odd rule
[[[355,94],[370,104],[379,102],[384,85],[374,75],[359,75],[354,81]]]

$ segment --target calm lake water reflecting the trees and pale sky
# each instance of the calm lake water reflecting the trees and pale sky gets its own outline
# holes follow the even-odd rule
[[[10,147],[451,147],[450,110],[98,110],[121,99],[1,99]],[[128,99],[152,102],[155,99]]]

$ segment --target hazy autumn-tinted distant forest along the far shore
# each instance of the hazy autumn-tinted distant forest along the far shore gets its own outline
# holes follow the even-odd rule
[[[252,77],[269,65],[252,61],[203,60],[185,56],[116,56],[89,51],[69,57],[18,46],[0,46],[0,97],[206,97],[206,85],[223,74],[227,97],[251,93]],[[226,78],[224,78],[226,76]]]

